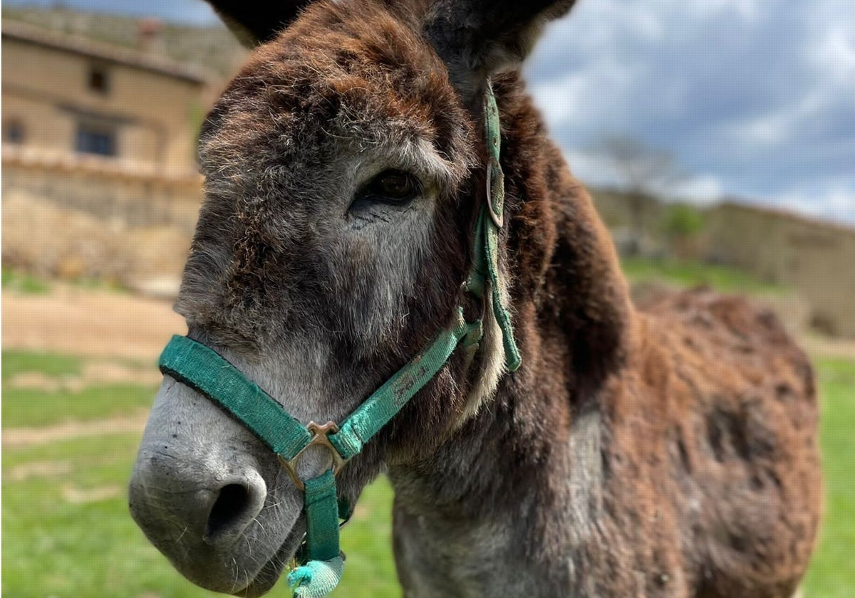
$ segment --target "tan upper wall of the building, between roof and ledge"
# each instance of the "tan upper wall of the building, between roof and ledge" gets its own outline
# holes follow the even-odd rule
[[[90,87],[93,67],[107,73],[104,92]],[[3,37],[4,141],[18,121],[22,145],[46,155],[74,152],[85,122],[115,128],[116,160],[167,174],[194,172],[202,97],[196,82]]]

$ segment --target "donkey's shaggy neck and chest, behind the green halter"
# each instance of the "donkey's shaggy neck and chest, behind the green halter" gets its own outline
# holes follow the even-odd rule
[[[398,570],[424,595],[568,587],[597,516],[604,388],[633,317],[608,233],[516,75],[495,90],[523,366],[431,458],[390,470]]]

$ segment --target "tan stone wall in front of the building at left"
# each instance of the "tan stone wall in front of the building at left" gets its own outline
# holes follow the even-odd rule
[[[97,159],[3,150],[3,264],[171,294],[186,261],[202,180]]]

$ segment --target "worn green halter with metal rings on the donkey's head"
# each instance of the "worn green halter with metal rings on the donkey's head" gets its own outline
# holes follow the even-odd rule
[[[503,225],[504,174],[499,166],[501,134],[496,99],[487,86],[485,97],[486,141],[489,151],[486,202],[475,223],[473,264],[467,290],[481,298],[486,287],[492,293],[492,312],[502,331],[505,365],[516,372],[521,364],[510,314],[498,278],[498,231]],[[486,301],[485,301],[486,304]],[[163,349],[160,369],[207,396],[232,413],[279,456],[299,490],[304,490],[306,537],[298,552],[298,564],[288,574],[296,598],[321,598],[335,589],[344,569],[339,550],[339,527],[350,519],[352,507],[339,502],[335,476],[347,460],[386,425],[410,399],[445,365],[458,345],[475,351],[483,337],[481,320],[467,322],[463,307],[457,308],[451,325],[439,331],[433,343],[386,380],[341,425],[328,422],[302,425],[257,384],[214,350],[188,337],[174,336]],[[297,463],[312,445],[327,448],[333,467],[316,478],[303,480]]]

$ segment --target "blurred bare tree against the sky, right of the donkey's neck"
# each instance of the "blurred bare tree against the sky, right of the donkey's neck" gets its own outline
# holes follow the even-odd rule
[[[637,254],[645,232],[646,205],[681,179],[680,169],[673,155],[626,135],[603,138],[592,150],[610,163],[618,185],[628,193],[632,240],[627,249]]]

